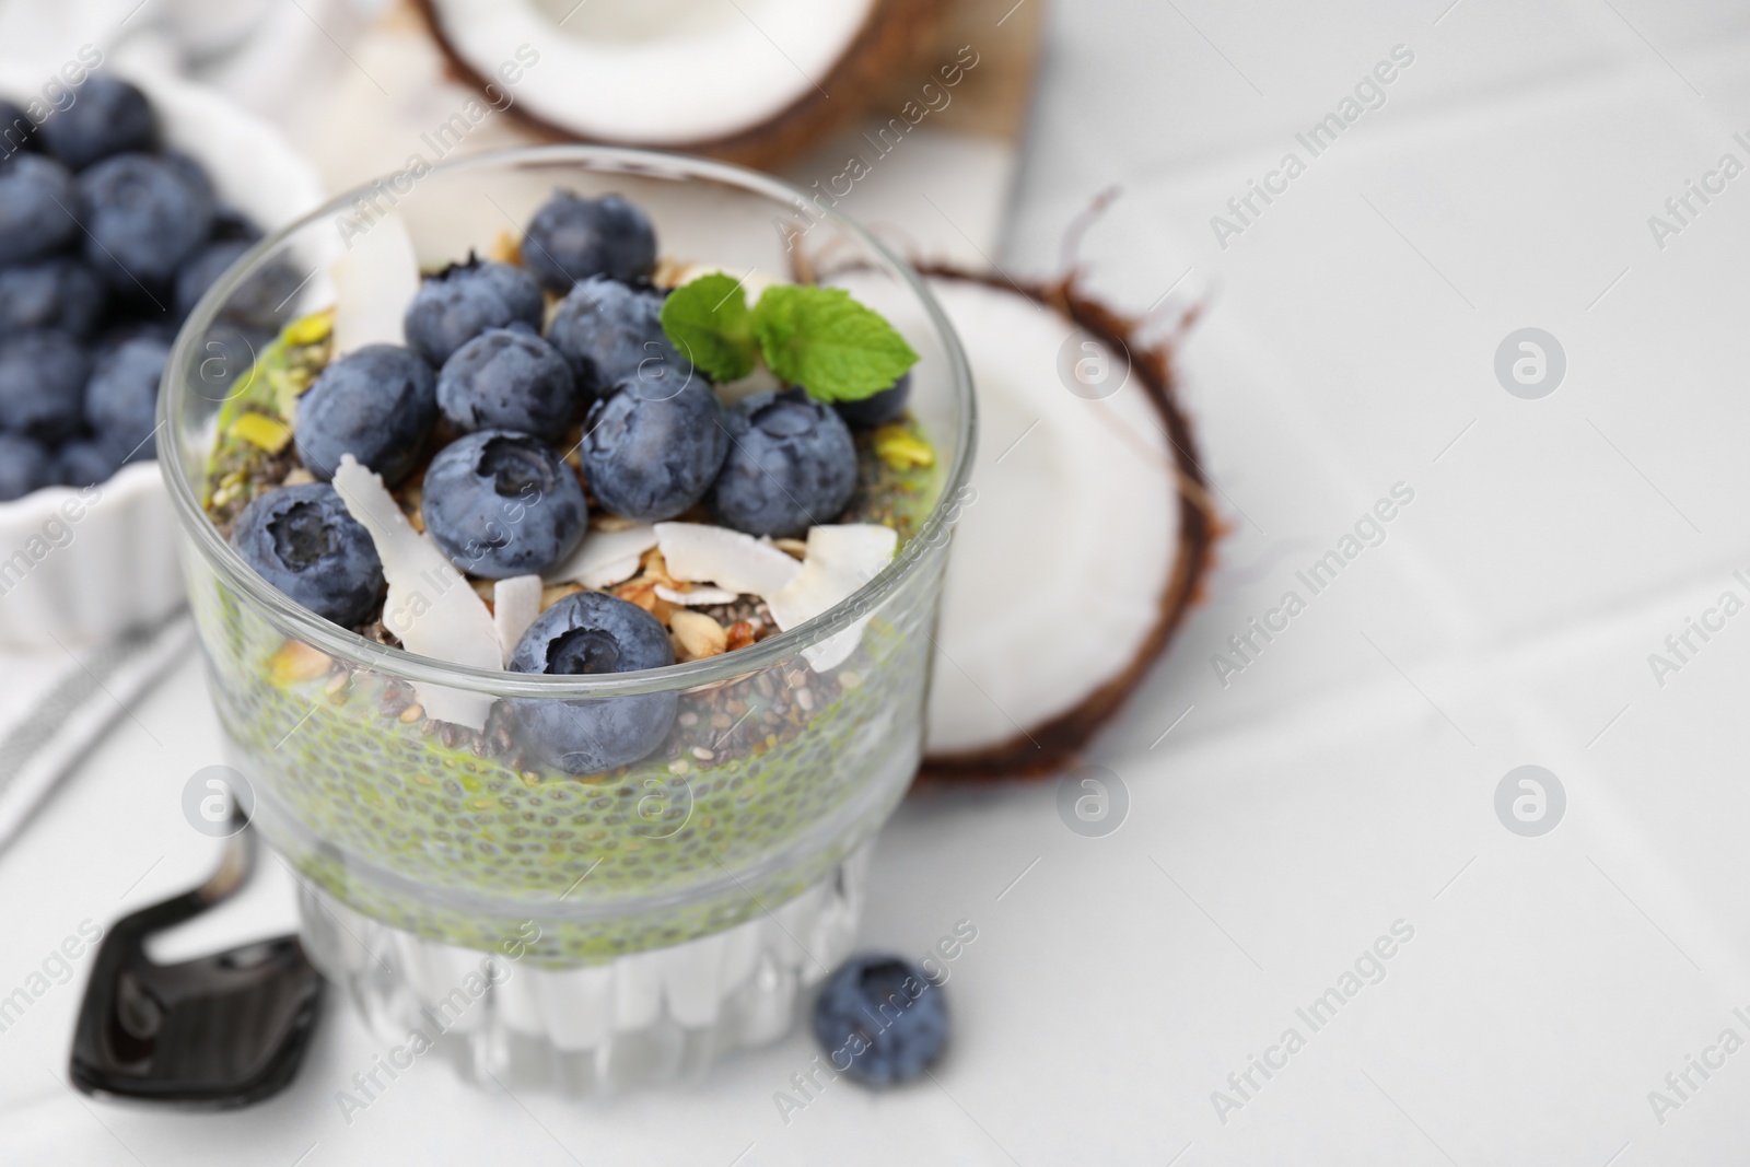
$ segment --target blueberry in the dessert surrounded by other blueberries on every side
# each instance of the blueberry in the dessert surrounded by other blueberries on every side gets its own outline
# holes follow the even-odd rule
[[[464,434],[511,429],[558,441],[578,411],[578,383],[539,336],[488,329],[444,360],[438,409]]]

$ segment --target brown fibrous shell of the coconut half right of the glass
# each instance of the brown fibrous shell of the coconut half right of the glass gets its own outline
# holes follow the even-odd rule
[[[1222,534],[1216,509],[1208,492],[1208,479],[1197,457],[1197,439],[1190,422],[1178,404],[1172,381],[1172,338],[1157,345],[1134,341],[1141,320],[1120,315],[1082,294],[1076,275],[1057,283],[1015,285],[1006,278],[957,271],[954,268],[922,268],[931,278],[971,280],[998,290],[1018,292],[1073,320],[1090,336],[1115,352],[1130,355],[1132,376],[1138,378],[1148,401],[1160,413],[1160,422],[1172,441],[1178,465],[1174,490],[1180,497],[1180,549],[1172,577],[1160,595],[1160,614],[1143,637],[1130,663],[1104,684],[1088,693],[1074,709],[1050,721],[1029,726],[1027,733],[980,751],[931,754],[924,758],[919,780],[928,782],[985,782],[992,779],[1043,777],[1071,768],[1088,740],[1124,709],[1125,700],[1143,681],[1186,609],[1200,598],[1204,574]],[[1186,325],[1195,313],[1186,318]]]

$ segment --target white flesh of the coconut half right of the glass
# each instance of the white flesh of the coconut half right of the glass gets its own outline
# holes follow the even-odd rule
[[[1172,446],[1138,376],[1059,380],[1074,325],[1013,290],[933,278],[978,395],[976,500],[948,560],[928,752],[976,754],[1074,712],[1162,616],[1180,546]],[[1111,352],[1110,367],[1125,367]]]

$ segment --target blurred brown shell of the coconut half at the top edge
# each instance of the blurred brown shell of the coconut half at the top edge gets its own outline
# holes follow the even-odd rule
[[[413,0],[432,40],[443,52],[450,73],[462,84],[486,91],[488,79],[457,52],[438,16],[436,0]],[[934,45],[942,24],[938,0],[875,0],[863,30],[850,40],[833,68],[788,108],[758,126],[719,138],[663,143],[676,154],[704,154],[758,170],[775,170],[800,157],[830,133],[866,114],[880,100],[884,82],[914,66]],[[824,89],[824,93],[822,93]],[[828,100],[831,94],[831,100]],[[506,115],[548,142],[593,142],[597,145],[649,145],[630,138],[584,138],[576,131],[537,117],[514,103]]]

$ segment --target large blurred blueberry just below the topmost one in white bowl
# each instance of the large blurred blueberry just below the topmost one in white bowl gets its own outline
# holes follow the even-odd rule
[[[166,294],[214,220],[212,194],[150,154],[116,154],[79,175],[79,206],[86,261],[124,296]]]

